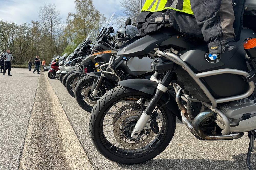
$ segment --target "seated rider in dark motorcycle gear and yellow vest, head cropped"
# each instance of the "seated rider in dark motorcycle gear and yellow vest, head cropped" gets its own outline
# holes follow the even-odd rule
[[[166,24],[208,42],[209,53],[235,49],[243,26],[245,0],[146,0],[136,19],[137,36]]]

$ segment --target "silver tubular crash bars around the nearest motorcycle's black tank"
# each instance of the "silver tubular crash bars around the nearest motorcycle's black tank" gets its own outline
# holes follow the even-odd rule
[[[212,94],[210,93],[210,91],[206,88],[206,86],[204,85],[204,83],[200,80],[200,78],[202,77],[207,77],[207,76],[212,76],[212,75],[218,75],[218,74],[225,74],[225,73],[229,73],[229,74],[237,74],[237,75],[242,75],[244,77],[247,77],[249,75],[248,72],[246,71],[242,71],[242,70],[236,70],[236,69],[219,69],[219,70],[214,70],[213,71],[207,71],[207,72],[203,72],[203,73],[194,73],[193,70],[191,70],[191,68],[176,54],[170,53],[170,52],[162,52],[162,51],[156,51],[155,55],[160,54],[161,56],[164,56],[166,58],[168,58],[169,60],[173,61],[174,63],[178,64],[179,66],[181,66],[184,70],[187,71],[187,73],[192,77],[192,79],[198,84],[198,86],[202,89],[202,91],[205,93],[205,95],[208,97],[208,99],[210,100],[211,104],[205,103],[205,102],[201,102],[203,104],[205,104],[206,107],[210,108],[212,111],[214,111],[215,113],[217,113],[219,116],[221,116],[221,118],[223,119],[226,128],[224,130],[222,130],[222,134],[223,135],[227,135],[230,131],[230,123],[226,117],[225,114],[223,114],[220,110],[218,110],[217,104],[218,103],[224,103],[224,102],[230,102],[230,101],[234,101],[234,100],[239,100],[239,99],[243,99],[246,98],[248,96],[250,96],[255,88],[254,82],[248,82],[250,85],[250,88],[248,89],[248,91],[244,94],[241,95],[237,95],[237,96],[232,96],[232,97],[226,97],[226,98],[220,98],[220,99],[215,99]]]

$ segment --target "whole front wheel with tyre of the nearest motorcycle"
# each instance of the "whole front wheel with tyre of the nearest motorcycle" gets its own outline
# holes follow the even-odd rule
[[[138,104],[138,99],[144,104]],[[148,123],[137,139],[132,130],[152,95],[118,86],[108,91],[95,104],[89,132],[95,148],[107,159],[124,164],[148,161],[160,154],[170,143],[176,128],[176,118],[163,100],[157,103],[151,117],[156,120],[159,133],[154,133]]]

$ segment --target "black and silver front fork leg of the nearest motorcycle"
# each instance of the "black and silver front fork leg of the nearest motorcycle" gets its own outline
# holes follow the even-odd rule
[[[173,72],[167,71],[166,75],[164,76],[163,80],[159,82],[156,93],[153,95],[152,99],[148,103],[146,109],[141,114],[138,122],[136,123],[132,133],[131,137],[138,138],[141,131],[145,128],[145,125],[150,121],[150,117],[153,114],[153,111],[158,103],[158,101],[161,99],[162,95],[167,92],[168,86],[171,83],[173,78]]]

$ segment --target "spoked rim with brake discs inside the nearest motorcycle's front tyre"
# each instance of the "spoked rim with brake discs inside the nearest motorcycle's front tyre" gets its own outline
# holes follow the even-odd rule
[[[165,119],[166,113],[162,108],[157,109],[158,106],[155,109],[157,109],[158,113],[156,119],[159,133],[155,134],[152,130],[148,130],[148,132],[143,130],[144,132],[140,134],[141,138],[139,140],[132,139],[129,136],[129,133],[132,132],[130,127],[135,126],[143,109],[145,109],[150,100],[145,98],[145,106],[140,106],[140,104],[136,103],[138,98],[145,97],[129,96],[118,100],[105,111],[100,123],[99,133],[103,145],[113,154],[124,158],[141,157],[152,152],[160,146],[166,134],[168,125]],[[120,109],[123,111],[120,112]]]

